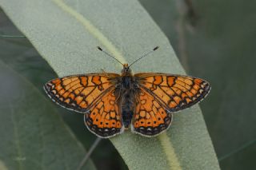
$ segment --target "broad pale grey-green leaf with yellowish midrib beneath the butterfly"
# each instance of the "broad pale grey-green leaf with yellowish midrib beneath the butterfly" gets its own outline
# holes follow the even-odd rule
[[[134,72],[184,74],[167,38],[137,1],[0,2],[60,77],[101,69],[119,72],[122,65],[98,51],[98,45],[128,63],[159,45],[154,56],[134,65]],[[198,106],[175,114],[172,127],[158,137],[127,131],[110,140],[131,169],[219,168]]]

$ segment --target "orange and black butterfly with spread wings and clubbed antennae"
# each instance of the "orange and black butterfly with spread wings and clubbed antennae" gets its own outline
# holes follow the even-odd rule
[[[83,113],[86,127],[102,138],[127,128],[142,136],[157,136],[170,127],[173,113],[202,101],[210,92],[210,84],[197,77],[133,74],[130,65],[122,65],[121,74],[66,76],[47,82],[44,89],[58,105]]]

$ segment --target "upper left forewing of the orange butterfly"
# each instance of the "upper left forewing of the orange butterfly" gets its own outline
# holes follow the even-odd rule
[[[118,76],[104,73],[62,77],[47,82],[44,89],[59,105],[86,113],[113,86],[111,78]]]

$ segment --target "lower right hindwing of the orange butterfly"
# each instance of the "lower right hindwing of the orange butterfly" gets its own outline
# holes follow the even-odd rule
[[[169,128],[171,121],[172,114],[166,113],[166,109],[150,93],[141,89],[131,130],[143,136],[155,136]]]

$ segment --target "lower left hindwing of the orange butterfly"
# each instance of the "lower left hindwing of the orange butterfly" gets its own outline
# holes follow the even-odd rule
[[[114,89],[106,93],[97,104],[85,114],[85,124],[91,132],[100,137],[110,137],[123,132],[121,113],[116,103]]]

